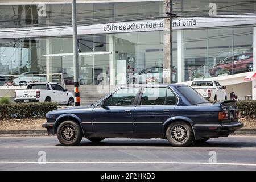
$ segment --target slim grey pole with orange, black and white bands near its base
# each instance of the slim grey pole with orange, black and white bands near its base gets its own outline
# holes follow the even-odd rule
[[[74,67],[74,97],[75,106],[80,106],[79,94],[79,60],[77,47],[76,0],[72,0],[72,26],[73,26],[73,67]]]

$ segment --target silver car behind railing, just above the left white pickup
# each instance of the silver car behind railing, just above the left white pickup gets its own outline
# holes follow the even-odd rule
[[[28,85],[34,82],[46,82],[46,75],[40,72],[26,72],[20,75],[14,76],[13,83],[15,85]]]

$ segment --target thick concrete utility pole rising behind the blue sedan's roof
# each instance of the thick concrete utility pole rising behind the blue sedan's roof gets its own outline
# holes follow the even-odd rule
[[[172,83],[172,0],[164,0],[163,83]],[[167,16],[170,16],[167,18]]]

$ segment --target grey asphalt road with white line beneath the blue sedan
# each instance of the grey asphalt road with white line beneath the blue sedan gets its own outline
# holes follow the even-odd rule
[[[56,136],[0,137],[0,170],[256,170],[256,137],[214,138],[185,148],[164,139],[83,139],[64,147]]]

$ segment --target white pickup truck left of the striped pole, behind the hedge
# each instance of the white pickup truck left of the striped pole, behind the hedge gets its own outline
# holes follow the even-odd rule
[[[24,90],[15,90],[15,102],[57,102],[60,105],[73,106],[74,96],[56,83],[30,84]]]

